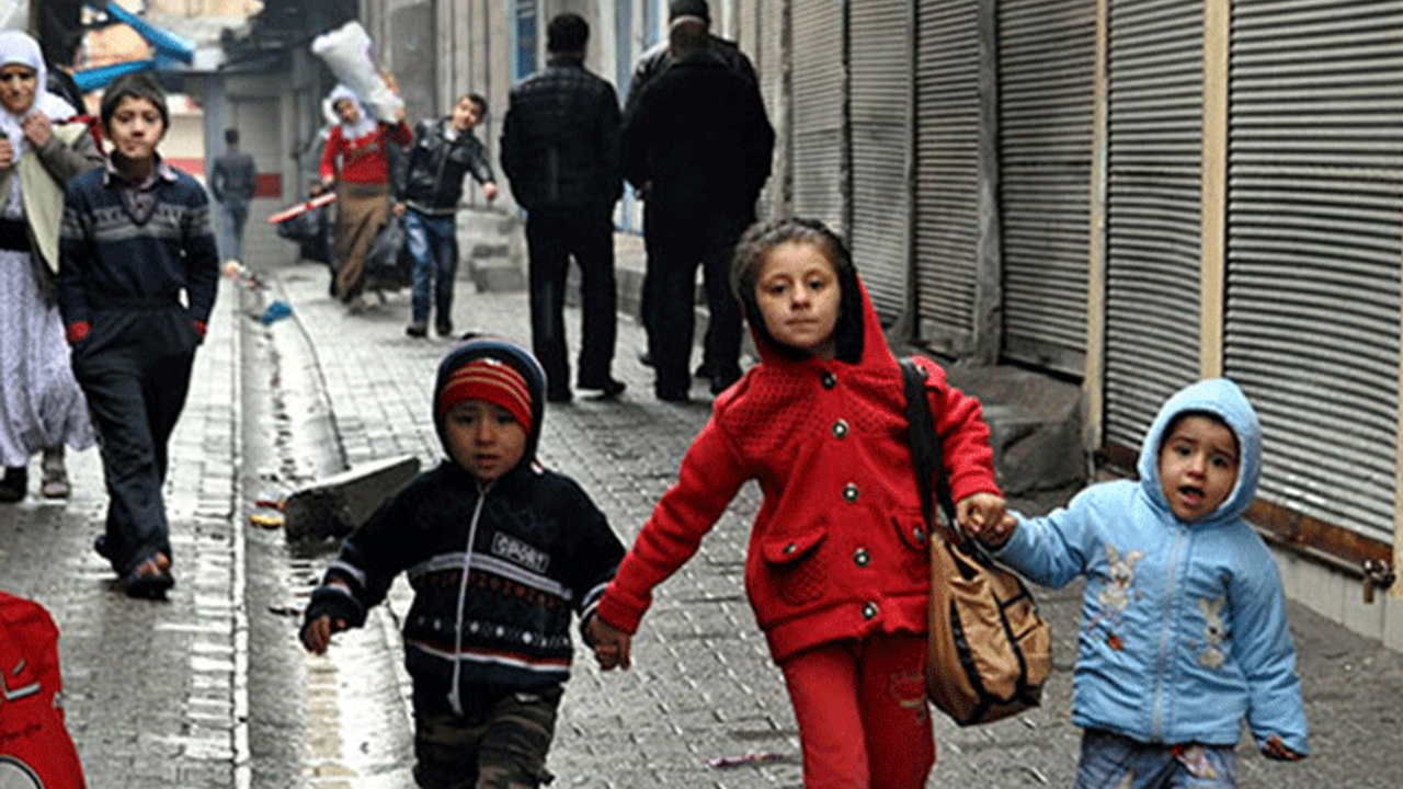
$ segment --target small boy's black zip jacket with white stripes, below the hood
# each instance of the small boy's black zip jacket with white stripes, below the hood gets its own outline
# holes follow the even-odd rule
[[[571,614],[593,611],[622,557],[605,515],[574,480],[525,462],[483,490],[445,460],[345,541],[327,581],[347,583],[351,594],[324,584],[306,616],[331,614],[358,626],[407,573],[414,601],[404,646],[415,708],[448,712],[456,698],[463,713],[504,691],[564,682]]]

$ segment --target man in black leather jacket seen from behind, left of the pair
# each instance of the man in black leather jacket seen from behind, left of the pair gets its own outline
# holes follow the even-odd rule
[[[623,192],[619,98],[584,67],[589,24],[560,14],[546,29],[546,69],[512,88],[502,122],[502,170],[526,209],[532,350],[546,368],[546,399],[571,399],[564,299],[570,257],[579,265],[584,324],[579,389],[612,397],[624,385],[615,354],[612,211]]]

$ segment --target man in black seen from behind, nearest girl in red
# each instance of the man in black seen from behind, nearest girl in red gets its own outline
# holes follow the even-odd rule
[[[774,129],[753,80],[709,44],[707,22],[672,21],[669,59],[633,102],[623,129],[624,175],[647,195],[648,355],[661,400],[686,400],[697,265],[706,281],[704,366],[711,393],[741,378],[741,312],[731,250],[755,222],[770,175]]]

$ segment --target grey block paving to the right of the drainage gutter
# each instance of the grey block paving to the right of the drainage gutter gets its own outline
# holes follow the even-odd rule
[[[425,465],[438,462],[442,451],[429,418],[429,387],[450,343],[404,336],[404,293],[352,316],[325,296],[323,268],[279,270],[276,282],[318,359],[347,462],[397,453],[415,455]],[[455,323],[460,331],[528,341],[526,310],[521,292],[478,293],[460,284]],[[295,329],[274,324],[272,331]],[[567,331],[578,343],[575,310],[567,313]],[[702,382],[692,404],[659,403],[651,396],[651,371],[633,354],[640,344],[640,329],[622,319],[615,375],[629,390],[617,402],[577,397],[551,406],[540,444],[543,460],[578,479],[626,543],[671,483],[709,414]],[[1016,504],[1038,510],[1058,496]],[[758,504],[756,489],[746,487],[697,556],[658,590],[636,640],[633,671],[599,672],[579,650],[550,760],[556,786],[801,786],[788,701],[741,583],[746,529]],[[394,606],[403,609],[400,595]],[[1069,785],[1080,736],[1066,719],[1078,599],[1076,588],[1040,595],[1056,629],[1056,672],[1042,709],[965,730],[937,720],[940,762],[932,786]],[[1403,658],[1302,606],[1292,606],[1292,618],[1316,757],[1281,765],[1244,744],[1240,785],[1396,786],[1403,752],[1385,743],[1397,737]],[[384,633],[393,639],[390,626],[380,626],[375,637]],[[403,689],[403,677],[397,681]],[[714,757],[745,754],[765,760],[731,769],[707,765]]]

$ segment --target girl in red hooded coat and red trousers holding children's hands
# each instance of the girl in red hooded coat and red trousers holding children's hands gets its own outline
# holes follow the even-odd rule
[[[596,658],[629,667],[654,587],[756,480],[745,588],[794,705],[804,785],[919,789],[936,760],[923,684],[930,564],[901,368],[824,225],[753,226],[731,279],[760,364],[717,397],[609,584],[589,628]],[[979,403],[918,364],[960,521],[999,522]]]

